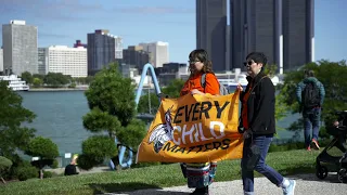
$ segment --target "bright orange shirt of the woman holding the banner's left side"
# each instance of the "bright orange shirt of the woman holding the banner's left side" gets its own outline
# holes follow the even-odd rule
[[[219,82],[216,76],[214,74],[206,74],[205,90],[204,90],[204,88],[201,84],[202,75],[203,74],[197,74],[189,78],[181,90],[180,96],[183,96],[190,93],[191,90],[193,89],[197,89],[203,93],[209,93],[213,95],[219,94]]]

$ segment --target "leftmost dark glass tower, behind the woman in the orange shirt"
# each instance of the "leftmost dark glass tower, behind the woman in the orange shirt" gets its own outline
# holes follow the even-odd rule
[[[196,48],[207,51],[215,72],[227,69],[226,0],[196,0]]]

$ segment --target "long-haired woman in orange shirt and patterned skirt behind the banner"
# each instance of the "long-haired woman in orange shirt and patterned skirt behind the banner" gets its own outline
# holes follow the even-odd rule
[[[189,54],[189,64],[191,75],[185,81],[180,96],[187,94],[209,93],[219,95],[219,82],[213,72],[213,64],[208,60],[205,50],[194,50]],[[205,88],[202,87],[202,75],[206,74]],[[217,162],[205,164],[181,164],[184,178],[187,178],[188,187],[195,188],[193,195],[208,195],[208,186],[213,183],[216,173]]]

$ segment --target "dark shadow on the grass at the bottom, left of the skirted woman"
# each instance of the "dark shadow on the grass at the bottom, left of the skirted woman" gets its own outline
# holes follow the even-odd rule
[[[159,195],[159,194],[170,194],[170,195],[183,195],[189,193],[183,192],[170,192],[170,191],[160,191],[162,187],[153,184],[140,183],[140,182],[127,182],[127,183],[91,183],[89,186],[93,190],[93,194],[129,194],[129,195],[140,195],[140,194],[151,194],[151,195]],[[139,190],[144,190],[145,192]]]

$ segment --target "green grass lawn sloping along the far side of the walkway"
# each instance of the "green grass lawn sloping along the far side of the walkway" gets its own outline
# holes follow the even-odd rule
[[[314,172],[314,160],[319,152],[304,150],[270,153],[267,162],[280,173],[296,174]],[[259,174],[256,173],[258,177]],[[216,181],[241,179],[240,160],[218,164]],[[44,180],[31,179],[0,185],[0,194],[95,194],[139,188],[159,188],[185,185],[178,164],[160,165],[121,171],[106,171]]]

